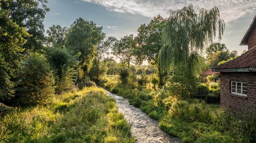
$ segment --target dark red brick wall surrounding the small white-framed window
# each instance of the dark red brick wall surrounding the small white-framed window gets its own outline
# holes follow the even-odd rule
[[[231,94],[231,81],[246,82],[247,97]],[[255,110],[256,72],[221,72],[221,105],[233,112]]]

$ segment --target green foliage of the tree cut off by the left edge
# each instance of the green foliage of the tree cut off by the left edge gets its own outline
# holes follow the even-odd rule
[[[7,1],[1,2],[1,4]],[[22,46],[26,43],[29,33],[19,27],[10,17],[9,12],[0,9],[0,100],[9,100],[14,96],[15,73],[21,68],[23,59]]]

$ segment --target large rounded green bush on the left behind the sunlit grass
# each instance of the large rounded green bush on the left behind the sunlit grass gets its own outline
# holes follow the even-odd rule
[[[54,76],[44,55],[32,53],[22,69],[16,95],[20,104],[45,103],[54,93]]]

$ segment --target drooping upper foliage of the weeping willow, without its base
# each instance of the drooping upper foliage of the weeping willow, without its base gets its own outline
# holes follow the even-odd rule
[[[169,10],[169,14],[162,33],[161,68],[171,64],[195,68],[200,53],[214,41],[217,32],[218,39],[222,39],[225,23],[220,18],[219,9],[207,10],[190,4],[176,11]]]

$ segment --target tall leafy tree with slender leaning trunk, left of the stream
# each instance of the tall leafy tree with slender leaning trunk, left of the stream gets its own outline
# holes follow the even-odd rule
[[[82,18],[76,19],[71,25],[67,33],[67,46],[73,55],[81,52],[79,56],[80,64],[76,71],[76,80],[78,79],[79,67],[83,69],[83,72],[90,71],[93,59],[96,53],[96,45],[103,39],[102,27],[97,27],[93,21],[85,21]]]

